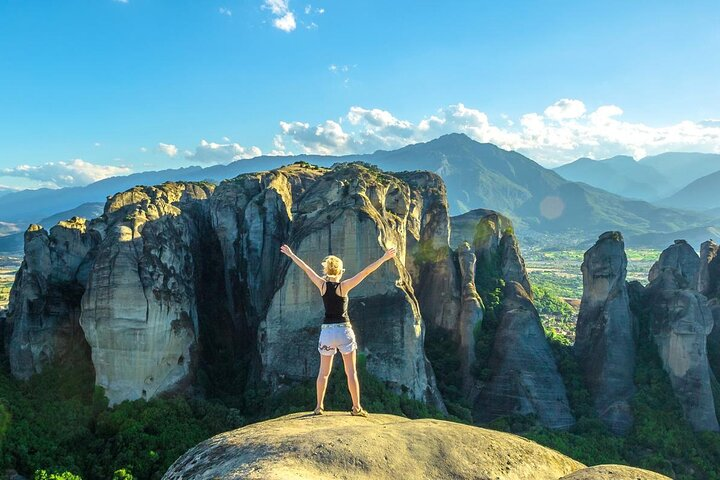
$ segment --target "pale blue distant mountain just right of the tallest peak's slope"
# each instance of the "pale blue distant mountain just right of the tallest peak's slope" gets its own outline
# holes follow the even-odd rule
[[[555,169],[563,178],[640,200],[657,200],[675,190],[674,184],[650,165],[618,155],[604,160],[579,158]]]

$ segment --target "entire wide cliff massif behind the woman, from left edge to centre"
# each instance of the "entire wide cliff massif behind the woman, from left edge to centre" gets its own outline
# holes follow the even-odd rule
[[[445,195],[428,172],[294,164],[217,189],[135,187],[90,222],[61,222],[49,234],[34,226],[5,328],[13,373],[27,378],[84,348],[111,404],[194,387],[201,364],[247,362],[253,381],[274,388],[313,378],[322,302],[280,245],[318,271],[338,254],[353,273],[396,247],[397,258],[352,292],[360,352],[396,391],[444,411],[415,287],[430,321],[451,312],[454,328],[463,293]],[[481,311],[463,315],[467,333]]]

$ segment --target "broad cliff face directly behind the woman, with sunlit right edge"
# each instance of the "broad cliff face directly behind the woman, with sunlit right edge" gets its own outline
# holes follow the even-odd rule
[[[350,294],[349,313],[359,349],[371,373],[399,392],[444,409],[425,358],[425,327],[404,266],[408,225],[419,225],[422,234],[422,207],[413,204],[408,183],[372,168],[347,165],[325,172],[297,203],[291,204],[288,195],[279,198],[287,201],[286,211],[292,215],[287,243],[317,270],[322,258],[333,253],[353,275],[387,248],[397,248],[396,259]],[[283,259],[275,271],[277,289],[260,321],[257,346],[263,379],[279,386],[317,375],[323,306],[317,288],[289,260]]]

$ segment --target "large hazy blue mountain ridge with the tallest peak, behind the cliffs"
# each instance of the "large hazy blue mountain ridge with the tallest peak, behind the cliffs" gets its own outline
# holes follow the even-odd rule
[[[159,184],[168,180],[218,182],[240,173],[268,170],[296,161],[322,166],[364,161],[391,171],[430,170],[438,173],[447,185],[452,215],[476,208],[493,209],[508,215],[518,231],[524,228],[551,234],[573,231],[577,235],[594,237],[605,230],[623,230],[628,235],[635,235],[712,225],[704,214],[659,208],[583,183],[570,182],[520,153],[478,143],[464,134],[444,135],[426,143],[365,155],[262,156],[207,168],[188,167],[113,177],[85,187],[11,193],[0,199],[0,205],[4,207],[4,218],[0,217],[0,220],[37,222],[39,218],[80,203],[104,202],[108,195],[138,184]],[[623,160],[611,163],[621,162]]]

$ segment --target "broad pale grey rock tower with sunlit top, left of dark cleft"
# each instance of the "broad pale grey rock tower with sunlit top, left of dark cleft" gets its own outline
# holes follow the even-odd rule
[[[81,301],[96,384],[111,404],[192,381],[198,331],[193,245],[183,209],[212,186],[165,183],[111,197]]]

